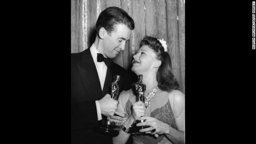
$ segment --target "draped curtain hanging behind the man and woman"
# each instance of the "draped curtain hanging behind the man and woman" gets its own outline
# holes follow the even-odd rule
[[[109,6],[124,9],[135,23],[130,41],[114,62],[128,70],[145,35],[164,39],[173,73],[185,94],[185,0],[71,0],[71,53],[90,48],[97,18]]]

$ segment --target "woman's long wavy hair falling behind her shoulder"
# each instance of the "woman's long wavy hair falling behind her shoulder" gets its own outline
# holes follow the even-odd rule
[[[164,47],[161,42],[157,40],[157,38],[145,36],[140,42],[140,47],[144,45],[148,45],[149,48],[154,50],[156,53],[156,59],[161,61],[161,65],[156,73],[158,87],[167,92],[179,90],[179,84],[172,73],[172,62],[170,56],[168,52],[164,52]]]

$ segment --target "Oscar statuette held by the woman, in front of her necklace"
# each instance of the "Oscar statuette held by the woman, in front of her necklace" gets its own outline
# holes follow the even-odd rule
[[[136,101],[144,102],[144,94],[146,91],[146,84],[142,84],[142,74],[138,75],[138,82],[135,83],[135,90],[137,93]],[[146,120],[135,120],[132,126],[129,128],[128,133],[132,134],[142,134],[144,132],[139,132],[140,129],[149,128],[150,126],[136,126],[139,122],[145,122]]]

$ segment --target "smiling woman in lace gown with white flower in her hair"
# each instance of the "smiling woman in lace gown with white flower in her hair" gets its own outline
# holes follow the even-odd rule
[[[133,58],[132,71],[142,74],[142,83],[146,85],[146,102],[136,102],[134,89],[120,93],[118,110],[126,112],[127,120],[119,135],[113,137],[113,143],[125,144],[132,123],[146,120],[136,125],[150,127],[140,129],[146,133],[132,134],[134,144],[184,144],[185,95],[178,90],[172,74],[167,45],[163,40],[146,36]]]

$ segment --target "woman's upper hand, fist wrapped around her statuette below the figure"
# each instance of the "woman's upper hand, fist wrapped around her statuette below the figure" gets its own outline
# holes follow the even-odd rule
[[[138,101],[132,104],[132,117],[134,120],[137,120],[141,116],[145,116],[146,114],[146,107],[144,102]]]

